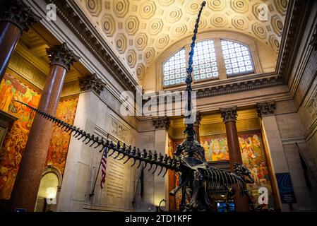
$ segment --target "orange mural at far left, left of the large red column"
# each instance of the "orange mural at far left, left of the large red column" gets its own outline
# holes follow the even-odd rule
[[[13,100],[37,107],[40,95],[6,73],[0,83],[0,109],[17,117],[8,130],[0,150],[0,199],[9,199],[16,180],[21,156],[35,117],[34,112]]]

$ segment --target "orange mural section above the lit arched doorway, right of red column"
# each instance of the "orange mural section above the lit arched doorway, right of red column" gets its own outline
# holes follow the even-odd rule
[[[56,117],[66,121],[68,124],[73,124],[77,102],[78,99],[59,102],[59,106],[56,110]],[[61,174],[63,174],[70,140],[71,135],[69,133],[66,133],[63,129],[54,125],[45,165],[52,164],[61,171]]]

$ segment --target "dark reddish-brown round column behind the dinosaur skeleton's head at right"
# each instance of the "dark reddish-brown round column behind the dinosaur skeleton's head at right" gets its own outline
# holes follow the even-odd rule
[[[242,164],[241,152],[240,152],[240,145],[239,145],[239,138],[238,138],[238,131],[237,131],[237,106],[229,107],[225,109],[220,109],[220,114],[222,120],[226,126],[226,134],[227,134],[227,143],[229,149],[229,164],[230,170],[233,172],[234,170],[234,163]],[[239,187],[235,187],[237,194],[234,196],[234,203],[236,204],[236,211],[237,212],[248,212],[249,209],[249,201],[246,196],[240,197],[239,196]]]

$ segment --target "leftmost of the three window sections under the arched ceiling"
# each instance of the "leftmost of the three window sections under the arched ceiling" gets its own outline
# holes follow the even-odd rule
[[[186,55],[185,49],[181,49],[168,59],[163,65],[163,84],[177,85],[185,82],[186,79]]]

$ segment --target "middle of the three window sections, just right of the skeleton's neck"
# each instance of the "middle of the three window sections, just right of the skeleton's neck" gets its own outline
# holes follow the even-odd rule
[[[214,41],[207,40],[198,42],[193,52],[194,80],[217,78],[219,72]]]

